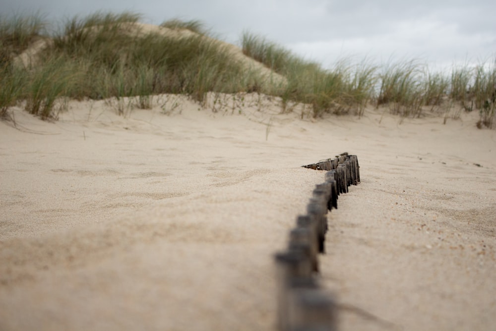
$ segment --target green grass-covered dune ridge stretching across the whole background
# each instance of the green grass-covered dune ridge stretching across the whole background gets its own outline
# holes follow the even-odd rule
[[[0,16],[1,117],[8,117],[8,108],[20,100],[46,119],[57,117],[63,98],[114,100],[124,113],[129,105],[151,108],[153,96],[162,93],[185,94],[205,105],[208,92],[258,92],[279,96],[282,111],[308,104],[314,117],[363,116],[368,104],[402,117],[446,116],[452,104],[459,104],[480,112],[479,127],[493,127],[496,59],[454,67],[448,74],[432,72],[419,61],[382,66],[340,61],[324,69],[248,32],[241,37],[245,57],[241,52],[233,56],[232,48],[212,38],[199,21],[173,19],[150,30],[140,18],[132,12],[98,12],[68,19],[48,35],[48,23],[39,14]],[[37,53],[26,54],[40,41]],[[248,66],[247,59],[273,74]],[[124,105],[129,97],[134,101]]]

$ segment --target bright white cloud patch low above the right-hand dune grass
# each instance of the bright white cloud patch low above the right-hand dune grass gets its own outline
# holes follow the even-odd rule
[[[456,22],[432,17],[391,23],[391,29],[367,37],[338,37],[288,44],[295,53],[332,66],[337,60],[367,57],[376,62],[420,59],[432,64],[454,61],[480,62],[494,56],[496,34],[467,33]],[[493,52],[493,53],[491,53]]]

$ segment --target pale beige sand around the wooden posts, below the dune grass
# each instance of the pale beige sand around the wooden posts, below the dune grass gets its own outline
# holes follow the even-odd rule
[[[339,329],[495,330],[496,132],[477,114],[156,102],[0,122],[0,330],[275,330],[273,255],[324,178],[300,166],[344,151],[362,182],[319,276]]]

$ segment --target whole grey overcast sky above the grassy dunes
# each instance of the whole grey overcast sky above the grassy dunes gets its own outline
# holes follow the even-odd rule
[[[131,10],[154,24],[197,19],[225,41],[248,30],[327,67],[350,57],[434,67],[496,56],[496,0],[0,0],[0,8],[50,20],[98,10]]]

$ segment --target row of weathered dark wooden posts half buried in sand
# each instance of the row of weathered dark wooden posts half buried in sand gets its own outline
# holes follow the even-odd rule
[[[277,327],[280,331],[335,331],[335,300],[319,286],[314,274],[320,270],[318,253],[325,253],[327,213],[338,207],[340,194],[360,183],[360,166],[356,155],[342,153],[303,167],[326,171],[325,181],[315,186],[307,214],[297,217],[287,251],[275,256]]]

